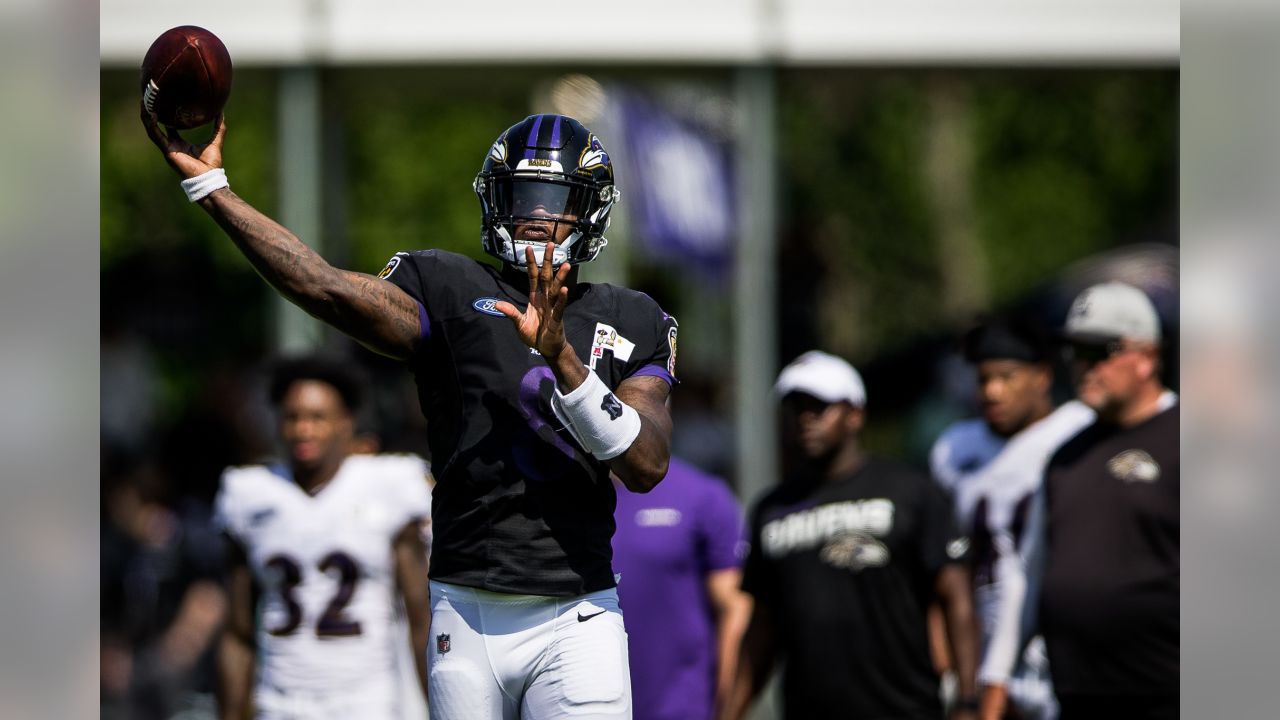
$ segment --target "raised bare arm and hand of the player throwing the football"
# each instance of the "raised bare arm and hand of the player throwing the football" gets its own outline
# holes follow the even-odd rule
[[[184,178],[223,165],[227,120],[207,145],[192,146],[177,131],[160,128],[142,109],[147,136]],[[408,357],[421,332],[417,302],[372,275],[334,268],[284,225],[268,218],[230,188],[216,190],[200,206],[236,242],[253,268],[289,302],[329,323],[375,352]]]

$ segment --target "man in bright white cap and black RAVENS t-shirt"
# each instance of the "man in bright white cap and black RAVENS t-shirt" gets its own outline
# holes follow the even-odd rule
[[[722,717],[742,717],[786,659],[785,716],[942,717],[925,614],[940,601],[974,717],[975,623],[968,541],[925,474],[870,457],[867,392],[849,363],[806,352],[774,386],[783,482],[751,516],[742,589],[754,607]]]

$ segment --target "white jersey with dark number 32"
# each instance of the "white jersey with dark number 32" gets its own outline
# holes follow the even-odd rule
[[[261,591],[260,685],[319,693],[396,676],[392,543],[430,511],[426,464],[411,455],[352,455],[315,496],[279,465],[223,474],[216,520]]]

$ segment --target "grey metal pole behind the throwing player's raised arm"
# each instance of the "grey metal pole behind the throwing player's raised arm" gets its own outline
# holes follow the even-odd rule
[[[323,252],[320,69],[303,65],[280,70],[279,102],[280,222]],[[319,320],[283,297],[275,299],[278,352],[314,351],[323,340]]]

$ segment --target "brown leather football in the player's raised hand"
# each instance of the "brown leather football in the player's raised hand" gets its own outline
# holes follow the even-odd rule
[[[142,101],[178,129],[211,123],[232,94],[232,56],[202,27],[166,29],[142,59]]]

